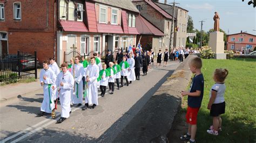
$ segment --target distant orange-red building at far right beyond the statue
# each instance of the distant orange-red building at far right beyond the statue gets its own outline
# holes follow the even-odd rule
[[[256,47],[256,35],[240,32],[227,35],[227,49],[232,51],[253,51]]]

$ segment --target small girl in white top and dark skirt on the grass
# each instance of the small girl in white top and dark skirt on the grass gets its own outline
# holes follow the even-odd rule
[[[210,110],[210,116],[212,116],[212,126],[207,130],[207,133],[218,135],[218,131],[221,131],[222,119],[221,114],[225,113],[225,99],[224,94],[226,90],[226,85],[224,83],[225,78],[228,75],[227,69],[215,69],[213,80],[215,84],[212,86],[210,91],[210,101],[208,103],[207,109]]]

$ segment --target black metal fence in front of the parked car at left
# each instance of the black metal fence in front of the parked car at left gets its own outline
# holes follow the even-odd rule
[[[1,85],[37,78],[39,62],[37,52],[17,54],[3,54],[0,56]]]

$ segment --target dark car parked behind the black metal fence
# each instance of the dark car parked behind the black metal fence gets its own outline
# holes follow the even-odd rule
[[[10,69],[12,71],[19,71],[19,64],[21,70],[32,70],[35,68],[35,58],[33,55],[19,56],[16,54],[11,54],[5,56],[0,60],[0,70]],[[39,67],[39,61],[37,59],[37,67]]]

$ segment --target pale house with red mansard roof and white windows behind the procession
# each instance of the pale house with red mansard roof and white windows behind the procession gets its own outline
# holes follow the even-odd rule
[[[78,5],[77,16],[74,15]],[[116,51],[129,45],[136,45],[139,34],[135,24],[139,11],[131,1],[65,1],[58,5],[58,63],[64,61],[64,52],[70,52],[73,45],[80,53],[99,52],[105,55],[107,49]],[[80,17],[80,18],[78,18]]]

